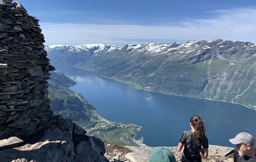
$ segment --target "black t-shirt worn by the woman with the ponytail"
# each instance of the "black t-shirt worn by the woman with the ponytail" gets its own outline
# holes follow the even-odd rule
[[[201,158],[201,146],[197,144],[194,133],[191,130],[184,131],[180,136],[179,142],[185,144],[183,150],[184,156],[189,158]],[[201,142],[201,145],[203,146],[203,148],[209,147],[207,137],[204,138],[204,140]]]

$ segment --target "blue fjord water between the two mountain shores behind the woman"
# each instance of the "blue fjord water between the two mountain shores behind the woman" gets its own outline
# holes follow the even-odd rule
[[[143,91],[89,71],[55,67],[77,82],[70,89],[81,93],[104,118],[142,126],[138,137],[143,136],[146,145],[176,146],[195,114],[204,121],[209,144],[235,147],[229,139],[240,132],[256,137],[256,111],[245,106]]]

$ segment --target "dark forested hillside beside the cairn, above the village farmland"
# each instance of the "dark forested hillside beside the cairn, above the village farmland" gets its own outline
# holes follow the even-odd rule
[[[95,107],[88,103],[81,94],[77,94],[68,87],[76,82],[66,77],[63,73],[50,73],[48,80],[49,98],[52,100],[51,107],[54,114],[61,114],[65,118],[72,119],[83,128],[90,128],[96,124],[90,118],[95,115]]]

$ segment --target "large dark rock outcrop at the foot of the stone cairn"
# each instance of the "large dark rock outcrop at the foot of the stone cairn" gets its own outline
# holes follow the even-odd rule
[[[54,123],[43,133],[26,139],[23,145],[0,151],[0,161],[108,162],[104,156],[104,143],[100,139],[83,134],[85,130],[72,121],[61,118],[61,115],[53,120],[56,118],[58,123]]]

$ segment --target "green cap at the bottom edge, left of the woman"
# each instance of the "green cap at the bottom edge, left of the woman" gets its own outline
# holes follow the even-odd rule
[[[174,154],[165,147],[158,147],[152,150],[149,162],[176,162]]]

